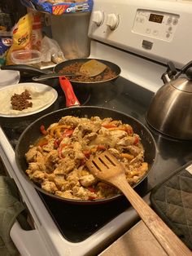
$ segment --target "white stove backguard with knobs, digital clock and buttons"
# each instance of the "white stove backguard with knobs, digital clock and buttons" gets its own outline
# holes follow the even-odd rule
[[[181,68],[192,60],[191,2],[95,0],[89,38]]]

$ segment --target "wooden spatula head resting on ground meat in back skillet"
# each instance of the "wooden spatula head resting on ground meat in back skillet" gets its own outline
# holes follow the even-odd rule
[[[95,77],[107,68],[106,64],[98,60],[88,60],[81,65],[80,73],[85,74],[88,77]]]

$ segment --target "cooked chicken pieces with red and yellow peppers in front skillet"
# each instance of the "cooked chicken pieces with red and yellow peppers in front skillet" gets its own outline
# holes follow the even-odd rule
[[[66,116],[41,126],[42,137],[26,153],[26,173],[34,183],[57,196],[98,200],[120,194],[117,188],[98,181],[85,166],[91,155],[108,149],[125,167],[128,183],[137,183],[148,165],[144,148],[132,126],[100,117]]]

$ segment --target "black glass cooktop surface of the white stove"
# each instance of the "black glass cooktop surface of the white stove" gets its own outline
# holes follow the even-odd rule
[[[65,98],[57,80],[51,85],[58,91],[59,98],[50,108],[33,116],[20,117],[17,121],[15,118],[0,118],[2,129],[13,148],[24,129],[37,117],[59,108],[65,108]],[[150,90],[137,86],[123,77],[118,77],[113,82],[95,85],[73,84],[73,88],[81,104],[116,109],[137,118],[151,130],[157,144],[158,155],[147,178],[136,188],[141,196],[145,196],[157,183],[192,159],[191,141],[177,140],[161,135],[146,124],[146,109],[153,96],[153,92]],[[39,195],[65,239],[74,243],[84,241],[129,207],[129,202],[125,200],[124,196],[105,204],[72,205],[55,201],[40,192]]]

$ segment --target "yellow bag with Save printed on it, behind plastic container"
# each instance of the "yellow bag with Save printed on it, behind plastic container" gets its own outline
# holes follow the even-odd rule
[[[7,53],[7,65],[13,64],[11,52],[32,49],[33,15],[29,12],[20,18],[12,32],[12,46]]]

